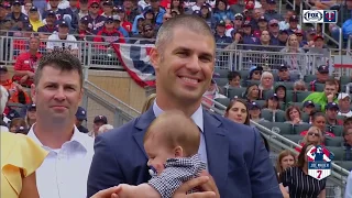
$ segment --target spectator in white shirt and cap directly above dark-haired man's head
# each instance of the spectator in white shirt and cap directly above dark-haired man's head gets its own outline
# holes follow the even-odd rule
[[[48,36],[46,43],[47,52],[53,52],[54,50],[69,51],[72,54],[78,55],[78,45],[76,37],[68,34],[69,28],[67,22],[61,21],[58,24],[58,32]]]

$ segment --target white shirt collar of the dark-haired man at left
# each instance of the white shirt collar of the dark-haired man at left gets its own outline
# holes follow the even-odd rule
[[[37,136],[35,135],[34,133],[34,125],[35,123],[32,125],[32,128],[30,129],[29,133],[28,133],[28,136],[30,136],[34,142],[36,142],[38,145],[41,145],[42,147],[44,148],[47,148],[47,150],[53,150],[48,146],[45,146],[42,144],[42,142],[37,139]],[[89,151],[89,144],[85,141],[85,139],[81,136],[81,135],[86,135],[86,134],[82,134],[81,132],[79,132],[79,130],[77,129],[76,125],[74,125],[75,129],[74,129],[74,135],[72,136],[72,139],[68,141],[68,142],[65,142],[64,144],[72,144],[72,143],[78,143],[80,145],[80,147],[82,147],[85,150],[85,152],[88,152]],[[63,144],[63,145],[64,145]]]

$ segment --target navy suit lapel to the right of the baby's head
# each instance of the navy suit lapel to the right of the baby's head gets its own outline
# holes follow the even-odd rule
[[[207,145],[208,168],[215,178],[220,191],[220,187],[226,188],[229,166],[229,139],[227,131],[220,129],[221,122],[208,112],[204,111],[205,138]]]

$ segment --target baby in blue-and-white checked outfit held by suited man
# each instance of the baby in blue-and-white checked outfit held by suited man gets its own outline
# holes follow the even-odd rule
[[[158,116],[144,135],[147,165],[156,173],[151,174],[147,184],[120,185],[119,198],[170,198],[183,183],[199,176],[206,168],[197,154],[199,133],[198,127],[182,111]]]

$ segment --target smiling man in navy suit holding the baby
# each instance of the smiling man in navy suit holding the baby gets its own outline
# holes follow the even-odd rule
[[[184,111],[198,125],[198,153],[213,177],[218,197],[283,197],[260,133],[201,108],[215,58],[215,37],[202,19],[179,15],[162,25],[151,52],[156,101],[141,117],[96,138],[88,197],[119,184],[139,185],[151,178],[143,136],[155,117],[170,109]],[[216,186],[212,189],[217,193]]]

